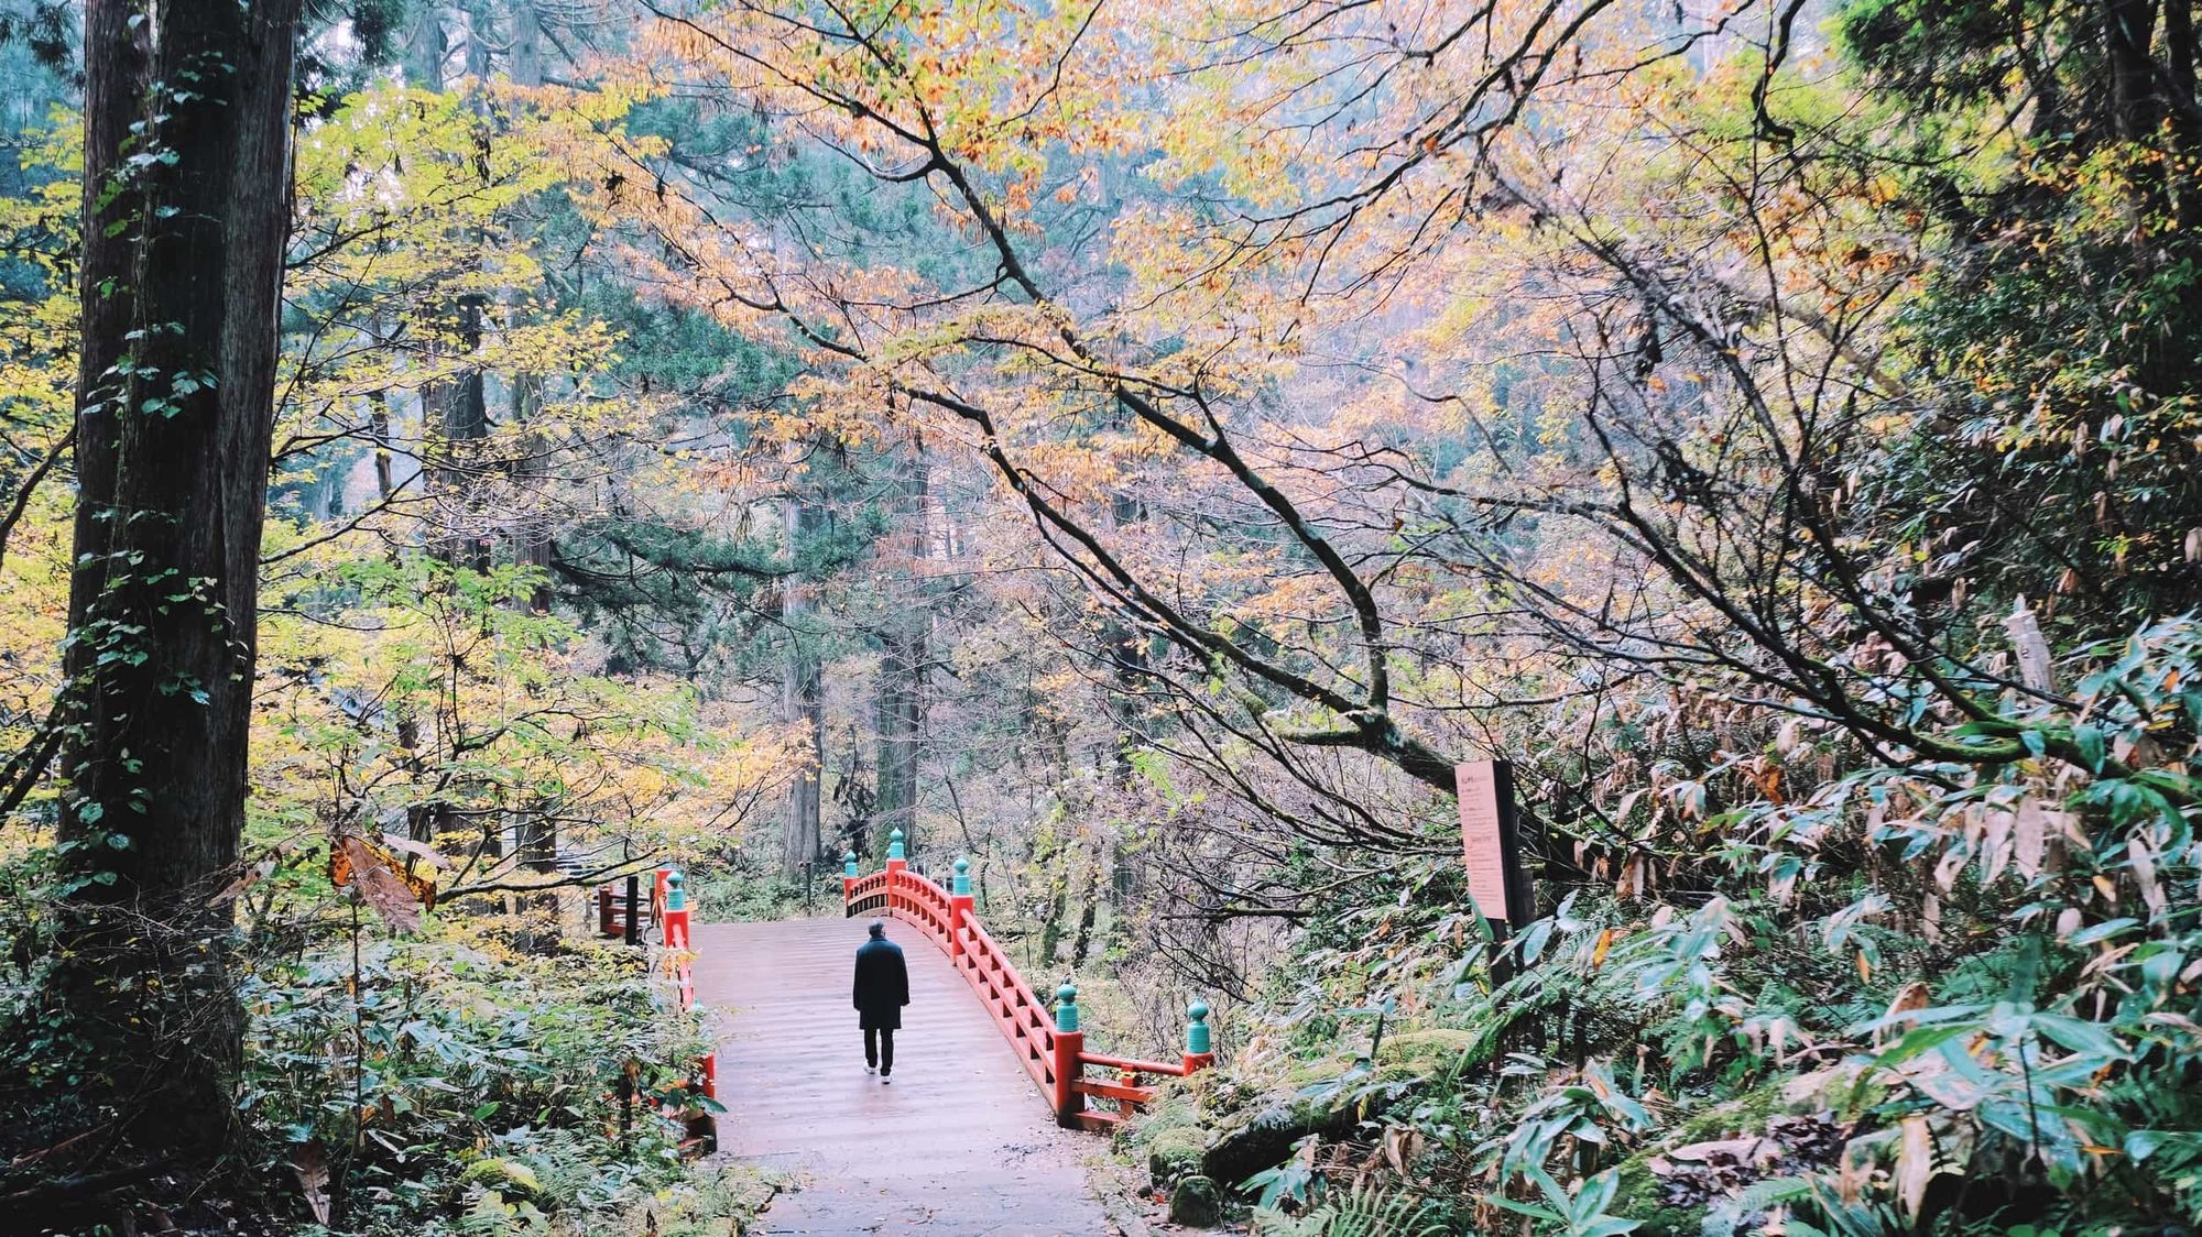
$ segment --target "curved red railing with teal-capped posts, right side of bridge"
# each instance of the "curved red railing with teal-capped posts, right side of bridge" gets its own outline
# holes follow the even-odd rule
[[[1048,1096],[1055,1120],[1075,1129],[1112,1129],[1132,1114],[1154,1103],[1156,1090],[1141,1079],[1182,1079],[1216,1063],[1209,1041],[1209,1008],[1193,1004],[1185,1028],[1185,1057],[1169,1061],[1138,1061],[1086,1052],[1086,1035],[1079,1030],[1079,990],[1070,984],[1057,988],[1057,1006],[1050,1010],[1024,982],[993,935],[978,922],[971,902],[971,861],[956,861],[953,889],[942,889],[936,880],[912,872],[903,854],[903,830],[894,830],[887,845],[887,867],[883,872],[857,874],[857,854],[841,856],[841,905],[848,916],[892,916],[925,933],[949,964],[971,984],[973,995],[993,1015],[995,1028],[1017,1052],[1017,1063],[1033,1076],[1039,1092]],[[1112,1072],[1114,1079],[1092,1076],[1088,1070]],[[1108,1101],[1112,1107],[1092,1107],[1088,1101]]]

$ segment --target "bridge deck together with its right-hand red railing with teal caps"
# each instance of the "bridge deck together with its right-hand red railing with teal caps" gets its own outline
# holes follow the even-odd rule
[[[843,878],[846,916],[896,920],[909,1008],[894,1083],[863,1070],[848,1001],[863,920],[696,924],[696,1001],[720,1012],[722,1153],[795,1178],[755,1233],[1112,1233],[1086,1162],[1105,1129],[1154,1096],[1152,1079],[1211,1061],[1198,1008],[1178,1061],[1086,1050],[1075,993],[1055,1008],[1017,975],[973,911],[909,872]],[[617,909],[610,929],[621,929]],[[925,938],[931,944],[918,944]],[[1066,1129],[1068,1127],[1068,1129]]]

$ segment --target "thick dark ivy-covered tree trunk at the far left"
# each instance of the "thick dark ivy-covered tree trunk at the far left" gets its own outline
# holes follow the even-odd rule
[[[297,22],[299,0],[86,7],[51,997],[86,1050],[79,1101],[174,1162],[207,1162],[236,1127],[218,894],[244,828]]]

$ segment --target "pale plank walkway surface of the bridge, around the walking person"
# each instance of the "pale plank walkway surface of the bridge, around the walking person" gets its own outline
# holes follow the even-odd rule
[[[1083,1156],[993,1019],[914,929],[894,1083],[863,1072],[848,1004],[865,920],[696,927],[696,997],[720,1015],[720,1151],[799,1173],[757,1233],[1108,1233]]]

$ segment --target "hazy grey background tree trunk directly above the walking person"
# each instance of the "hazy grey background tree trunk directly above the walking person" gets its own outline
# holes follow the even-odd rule
[[[918,757],[925,740],[925,663],[931,656],[931,596],[925,559],[929,475],[925,442],[912,438],[909,469],[898,486],[892,517],[896,535],[887,541],[892,574],[903,585],[892,590],[885,616],[885,647],[879,658],[879,814],[881,841],[892,830],[916,852],[918,845]]]

